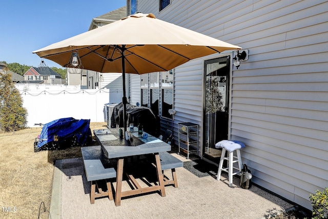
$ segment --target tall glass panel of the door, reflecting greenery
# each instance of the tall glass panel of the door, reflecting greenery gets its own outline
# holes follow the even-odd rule
[[[229,56],[205,62],[203,157],[219,162],[221,150],[215,144],[228,139],[229,118]]]

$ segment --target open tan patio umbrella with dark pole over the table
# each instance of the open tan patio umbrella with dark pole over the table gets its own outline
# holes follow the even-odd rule
[[[136,13],[33,53],[68,67],[72,52],[78,51],[84,69],[122,72],[126,117],[125,73],[168,71],[194,58],[236,49],[241,48],[161,21],[153,14]],[[126,118],[124,121],[126,124]]]

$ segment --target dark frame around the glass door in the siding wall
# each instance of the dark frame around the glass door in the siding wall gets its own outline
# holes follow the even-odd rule
[[[203,147],[206,146],[206,145],[203,144],[204,143],[203,133],[205,131],[205,128],[204,128],[203,124],[204,124],[204,119],[206,119],[204,117],[204,115],[205,115],[204,114],[205,104],[206,104],[205,103],[205,96],[204,96],[205,89],[206,89],[205,82],[204,82],[204,79],[205,79],[204,72],[206,71],[206,69],[205,69],[205,62],[206,61],[209,61],[209,60],[215,59],[215,58],[224,57],[224,56],[230,56],[230,70],[229,70],[229,80],[228,80],[229,81],[229,88],[230,88],[229,89],[229,110],[228,110],[228,112],[229,112],[229,116],[228,116],[228,140],[230,140],[230,138],[231,138],[231,99],[232,99],[231,96],[232,96],[232,70],[233,70],[233,63],[232,63],[233,58],[232,57],[233,57],[233,52],[226,52],[226,53],[222,52],[219,55],[211,56],[211,57],[207,57],[207,58],[202,59],[202,66],[203,66],[202,67],[202,88],[201,88],[201,92],[202,92],[202,94],[201,94],[201,96],[202,96],[202,98],[201,98],[201,108],[202,108],[202,111],[201,111],[200,138],[199,138],[200,139],[200,148],[199,148],[200,158],[202,160],[204,160],[208,163],[214,164],[216,166],[218,166],[219,164],[209,160],[208,158],[204,157],[204,155],[203,155]]]

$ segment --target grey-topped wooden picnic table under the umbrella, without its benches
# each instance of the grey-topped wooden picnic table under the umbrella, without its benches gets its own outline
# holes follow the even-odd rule
[[[117,173],[116,173],[116,193],[115,193],[115,205],[120,206],[121,198],[127,196],[133,196],[142,193],[149,193],[152,191],[159,191],[161,196],[165,196],[165,182],[163,178],[163,172],[160,162],[160,152],[166,152],[171,150],[171,146],[161,140],[158,140],[154,136],[148,138],[142,138],[136,132],[133,132],[133,136],[130,141],[125,138],[120,138],[118,129],[105,129],[95,130],[94,134],[97,141],[100,143],[101,149],[108,159],[117,160]],[[136,137],[138,136],[138,137]],[[141,141],[141,139],[143,141]],[[149,154],[154,156],[155,167],[157,172],[157,182],[159,185],[153,185],[146,188],[141,187],[133,175],[128,175],[129,180],[136,187],[135,189],[122,191],[122,178],[124,160],[127,157],[136,155]],[[176,184],[177,185],[177,184]]]

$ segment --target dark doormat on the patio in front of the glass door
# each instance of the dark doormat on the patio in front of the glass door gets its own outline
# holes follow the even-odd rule
[[[190,171],[191,173],[193,173],[198,177],[216,175],[218,169],[218,167],[216,167],[215,165],[210,164],[201,159],[183,162],[183,168],[187,169],[188,171]]]

